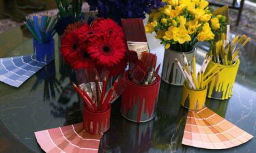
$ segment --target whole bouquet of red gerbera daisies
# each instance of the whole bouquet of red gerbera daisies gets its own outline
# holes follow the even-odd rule
[[[61,38],[61,54],[73,69],[107,69],[112,76],[127,65],[123,29],[111,19],[70,25]]]

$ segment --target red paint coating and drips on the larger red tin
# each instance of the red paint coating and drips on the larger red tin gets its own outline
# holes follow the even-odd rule
[[[132,112],[134,109],[134,105],[138,105],[138,102],[139,102],[139,110],[137,112],[137,122],[141,122],[143,99],[145,99],[143,114],[148,112],[149,113],[148,118],[150,119],[154,115],[153,110],[157,103],[158,89],[159,89],[159,83],[160,83],[159,75],[156,78],[156,82],[149,86],[143,86],[143,85],[134,84],[133,82],[130,82],[130,80],[128,80],[128,72],[124,74],[124,81],[126,82],[127,86],[122,95],[122,107],[121,107],[122,114],[126,116],[126,114],[128,114],[129,111]]]

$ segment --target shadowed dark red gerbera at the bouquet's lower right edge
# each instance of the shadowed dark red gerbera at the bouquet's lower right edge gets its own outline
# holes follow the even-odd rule
[[[117,76],[123,73],[126,70],[127,59],[124,57],[117,65],[113,65],[112,67],[106,67],[107,70],[110,71],[111,76]]]

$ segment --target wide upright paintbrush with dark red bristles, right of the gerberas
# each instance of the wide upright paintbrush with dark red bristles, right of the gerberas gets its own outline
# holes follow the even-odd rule
[[[128,50],[137,52],[139,59],[143,52],[149,52],[143,20],[141,18],[122,19]]]

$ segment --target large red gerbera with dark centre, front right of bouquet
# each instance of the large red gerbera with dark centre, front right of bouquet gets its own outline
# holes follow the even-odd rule
[[[113,33],[110,37],[103,35],[95,41],[89,41],[87,51],[98,65],[111,67],[120,62],[126,54],[124,38]]]

